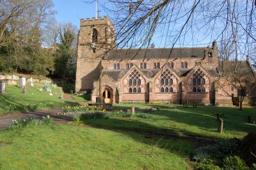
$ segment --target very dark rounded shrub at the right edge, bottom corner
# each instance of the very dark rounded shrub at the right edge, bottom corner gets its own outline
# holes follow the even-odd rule
[[[256,130],[242,139],[240,147],[240,155],[250,167],[256,162],[256,157],[252,153],[256,153]]]

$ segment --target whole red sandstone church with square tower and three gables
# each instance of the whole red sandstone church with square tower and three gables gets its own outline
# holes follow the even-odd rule
[[[216,42],[211,47],[115,49],[115,27],[108,17],[81,19],[80,26],[76,91],[90,93],[92,102],[101,96],[106,103],[232,105],[214,86],[220,71]],[[234,93],[232,87],[228,91]]]

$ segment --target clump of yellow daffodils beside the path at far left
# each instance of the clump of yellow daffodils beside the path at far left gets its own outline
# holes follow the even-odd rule
[[[39,125],[51,125],[54,120],[48,115],[47,118],[42,116],[42,120],[27,118],[24,120],[12,120],[12,125],[8,128],[9,130],[15,130],[22,127],[36,127]]]

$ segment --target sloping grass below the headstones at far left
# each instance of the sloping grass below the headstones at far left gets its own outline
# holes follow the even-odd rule
[[[51,85],[50,85],[51,86]],[[63,105],[72,105],[72,102],[61,100],[59,95],[63,94],[60,88],[51,88],[50,92],[37,88],[43,88],[44,84],[35,83],[35,87],[28,87],[28,93],[22,93],[22,89],[17,86],[6,85],[6,93],[0,95],[0,115],[4,112],[26,111],[29,108],[44,109],[49,107],[61,107]]]

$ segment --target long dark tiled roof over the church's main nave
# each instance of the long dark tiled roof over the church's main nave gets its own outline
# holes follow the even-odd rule
[[[105,59],[148,59],[148,58],[204,58],[205,48],[168,48],[168,49],[115,49]]]

